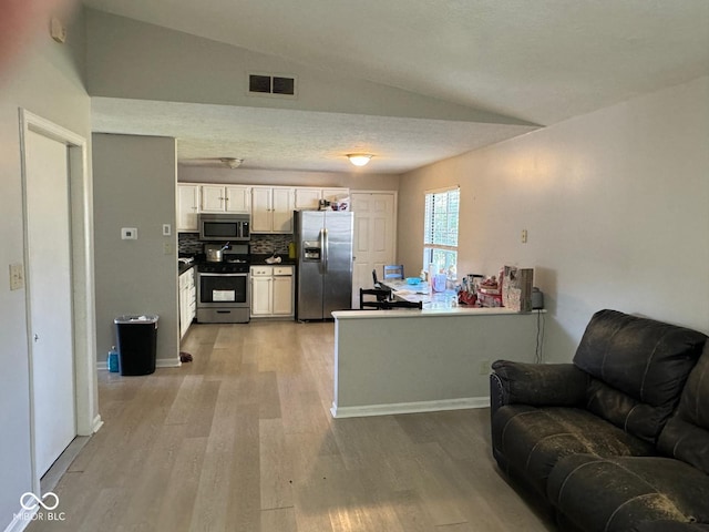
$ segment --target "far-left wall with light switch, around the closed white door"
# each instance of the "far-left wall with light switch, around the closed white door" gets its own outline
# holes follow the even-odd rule
[[[49,25],[49,21],[47,21]],[[64,45],[40,35],[35,48],[0,74],[0,530],[32,490],[30,382],[24,290],[10,290],[10,264],[24,262],[18,109],[90,141],[90,100],[83,89],[83,20],[69,25]],[[95,396],[94,396],[95,397]],[[97,410],[97,405],[94,405]]]

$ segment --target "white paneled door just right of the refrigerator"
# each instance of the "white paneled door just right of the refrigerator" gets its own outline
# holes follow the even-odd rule
[[[354,256],[352,308],[359,308],[359,289],[372,287],[372,269],[381,279],[384,264],[394,260],[394,195],[352,193],[354,212]]]

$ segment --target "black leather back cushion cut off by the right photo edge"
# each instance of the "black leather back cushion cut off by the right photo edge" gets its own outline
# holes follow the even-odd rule
[[[660,433],[658,448],[709,474],[709,345],[687,379],[677,412]]]

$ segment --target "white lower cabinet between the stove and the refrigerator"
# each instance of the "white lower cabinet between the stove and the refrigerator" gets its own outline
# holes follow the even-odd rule
[[[251,317],[294,316],[294,267],[251,266]]]

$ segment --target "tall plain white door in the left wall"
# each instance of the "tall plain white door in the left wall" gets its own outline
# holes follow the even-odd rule
[[[28,296],[37,473],[76,436],[68,147],[25,139]]]

